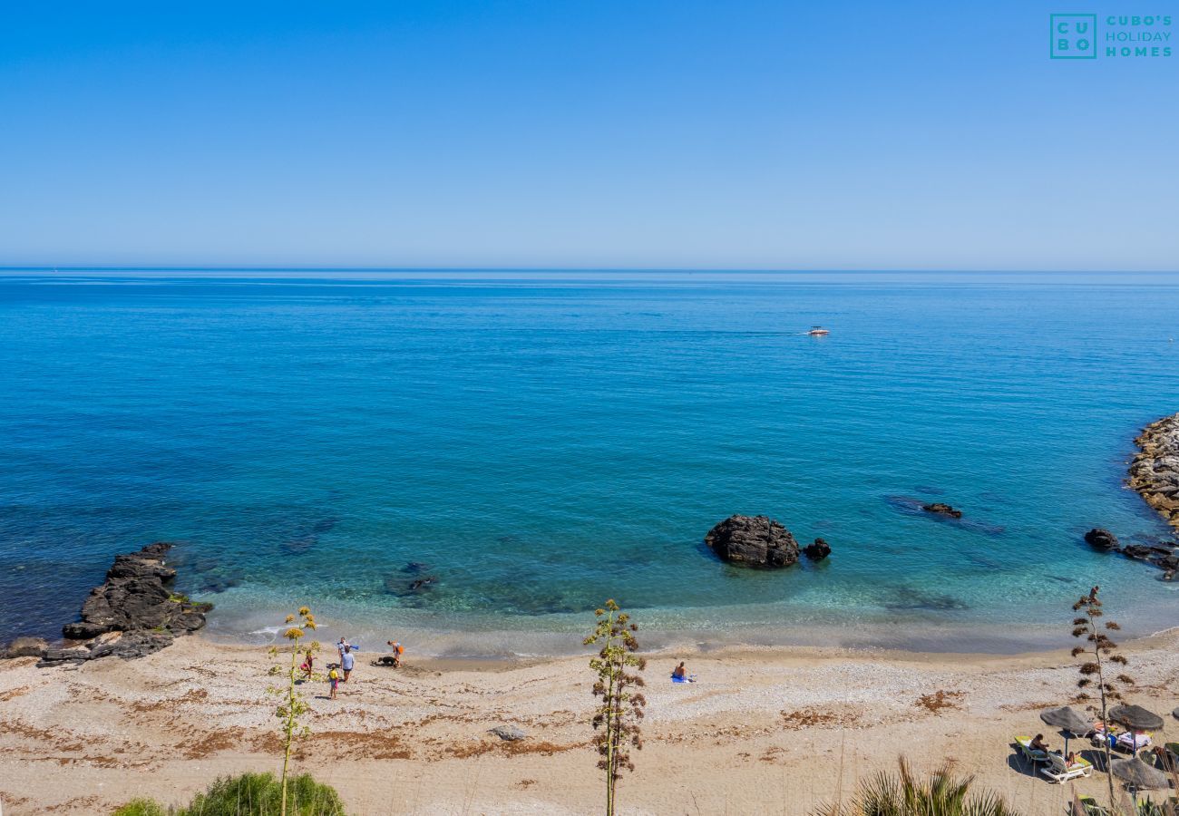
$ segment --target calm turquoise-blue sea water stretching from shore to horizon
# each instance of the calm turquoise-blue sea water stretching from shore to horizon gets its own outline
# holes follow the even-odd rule
[[[1016,651],[1093,583],[1148,633],[1177,586],[1080,537],[1168,535],[1121,480],[1177,335],[1167,275],[12,271],[0,638],[160,539],[235,638],[311,603],[325,637],[572,651],[614,597],[657,643]],[[834,555],[719,564],[735,512]]]

